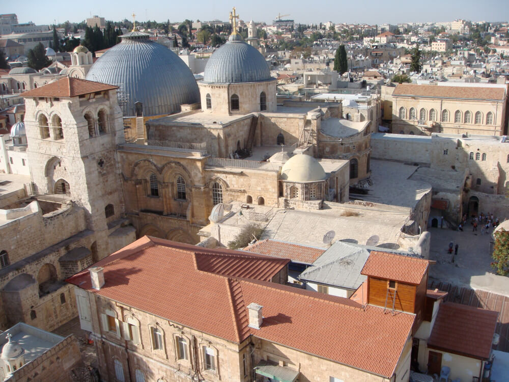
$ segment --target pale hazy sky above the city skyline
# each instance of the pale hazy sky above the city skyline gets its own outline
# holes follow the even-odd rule
[[[169,19],[171,22],[184,19],[202,21],[219,19],[226,21],[233,6],[237,7],[240,18],[244,21],[271,22],[278,13],[290,14],[285,18],[302,23],[319,23],[325,21],[370,24],[385,22],[425,22],[452,21],[463,18],[472,21],[504,21],[509,19],[508,0],[257,0],[246,2],[225,2],[223,0],[193,1],[154,1],[146,0],[86,0],[83,2],[65,2],[52,0],[15,1],[4,0],[2,13],[16,13],[19,22],[33,21],[36,24],[52,24],[69,21],[82,21],[90,15],[100,15],[106,20],[118,21],[131,19],[134,12],[136,19],[147,19],[159,22]]]

